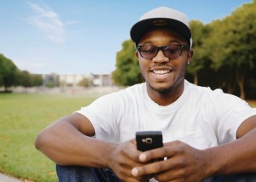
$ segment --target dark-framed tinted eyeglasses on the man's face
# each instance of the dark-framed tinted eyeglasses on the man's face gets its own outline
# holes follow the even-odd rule
[[[183,49],[188,50],[186,45],[169,44],[165,46],[154,46],[154,45],[140,45],[137,46],[137,52],[141,54],[144,59],[153,59],[158,52],[161,50],[163,54],[169,59],[178,58],[182,53]]]

